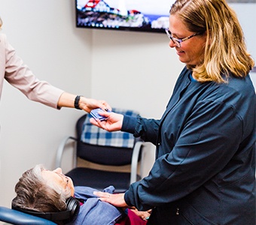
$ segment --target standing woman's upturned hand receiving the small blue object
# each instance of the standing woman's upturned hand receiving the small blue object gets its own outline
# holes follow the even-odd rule
[[[117,131],[121,129],[123,124],[122,114],[100,112],[99,115],[103,115],[107,119],[100,121],[99,119],[90,118],[90,123],[108,131]]]

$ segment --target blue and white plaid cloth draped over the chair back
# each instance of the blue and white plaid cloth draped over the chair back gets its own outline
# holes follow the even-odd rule
[[[133,110],[112,109],[114,113],[137,116],[139,113]],[[134,136],[123,131],[108,132],[90,123],[92,116],[88,113],[84,120],[81,141],[90,145],[104,145],[121,148],[133,148]]]

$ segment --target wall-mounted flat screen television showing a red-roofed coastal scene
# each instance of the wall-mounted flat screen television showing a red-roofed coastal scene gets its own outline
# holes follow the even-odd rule
[[[75,0],[76,26],[164,32],[175,0]]]

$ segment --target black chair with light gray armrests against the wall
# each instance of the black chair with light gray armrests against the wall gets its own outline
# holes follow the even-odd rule
[[[117,110],[114,110],[114,112],[119,113]],[[56,167],[61,167],[62,154],[67,148],[66,146],[70,146],[70,142],[75,142],[75,154],[73,158],[74,168],[66,173],[66,175],[72,178],[74,185],[94,187],[99,190],[113,185],[115,192],[124,192],[129,188],[131,183],[142,178],[142,170],[138,169],[138,167],[142,151],[144,151],[143,148],[145,147],[144,142],[142,142],[141,139],[133,137],[133,146],[130,148],[83,142],[81,141],[83,129],[85,129],[87,125],[93,126],[92,124],[84,124],[88,116],[90,116],[90,114],[85,114],[78,119],[76,123],[76,136],[66,136],[62,139],[56,154]],[[95,126],[93,127],[95,128]],[[102,130],[99,127],[96,128],[99,129],[101,135],[113,133]],[[114,166],[114,171],[113,169],[102,170],[84,166],[78,167],[78,158],[96,163],[96,165],[100,166],[111,166],[111,168]],[[128,166],[130,171],[118,171],[118,168],[125,165],[130,165]]]

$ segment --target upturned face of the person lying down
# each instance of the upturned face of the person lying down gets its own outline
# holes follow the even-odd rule
[[[44,169],[42,171],[42,176],[46,181],[53,182],[53,184],[58,185],[63,190],[66,190],[66,188],[70,188],[71,190],[71,196],[74,196],[74,184],[70,177],[64,175],[62,173],[61,168],[54,169],[53,171]]]

